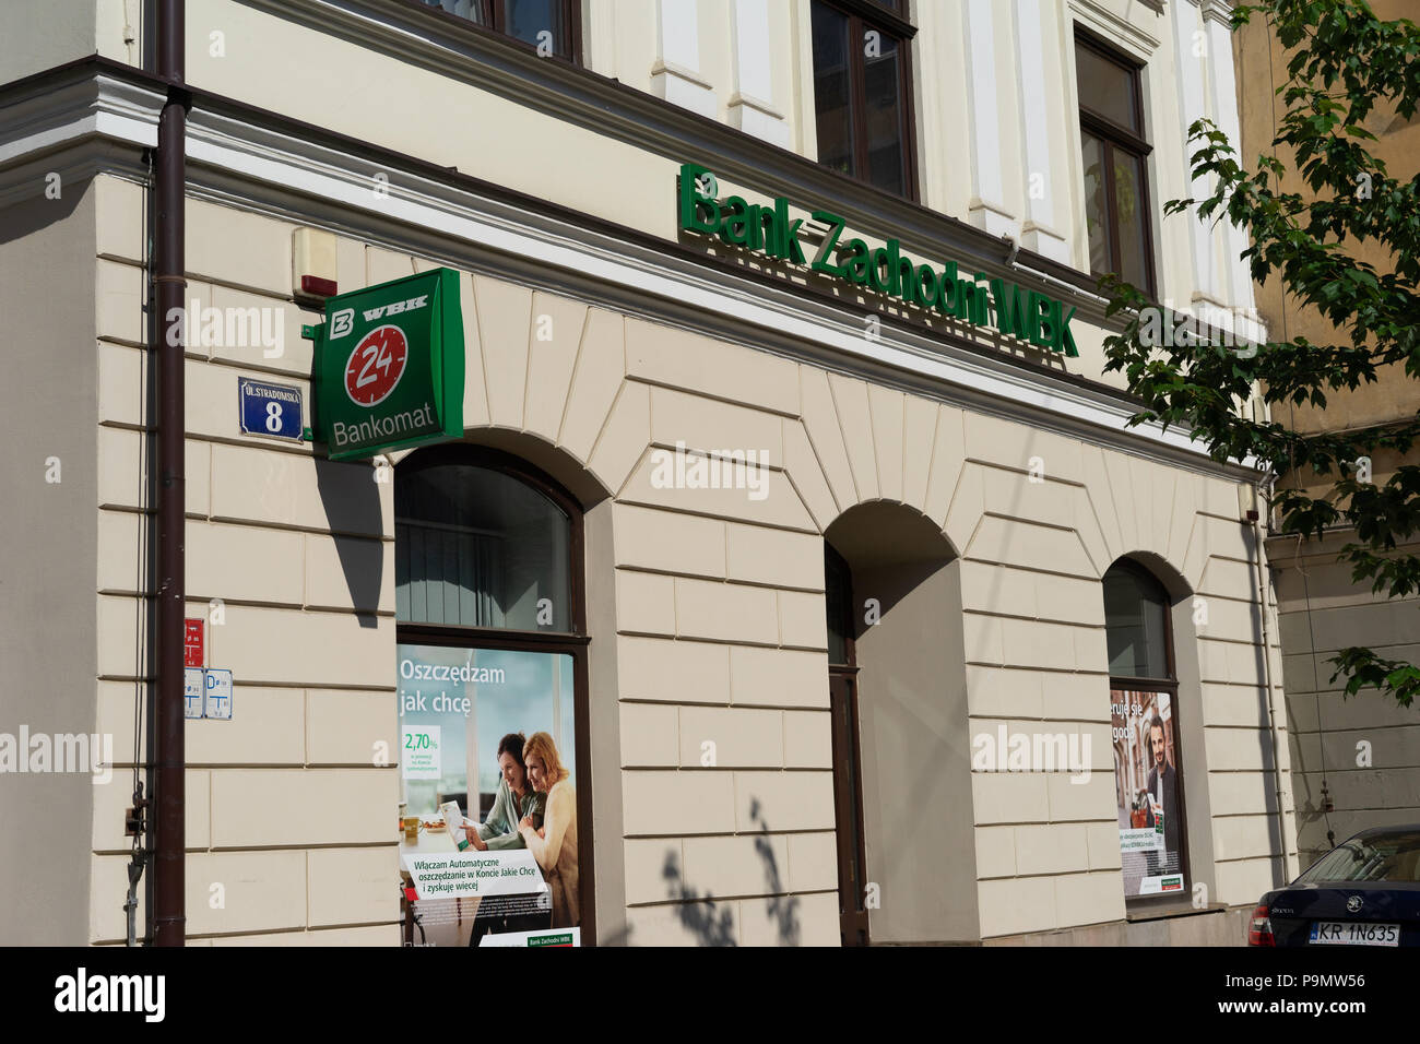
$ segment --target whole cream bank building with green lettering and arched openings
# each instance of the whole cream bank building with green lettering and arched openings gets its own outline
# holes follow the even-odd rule
[[[1241,943],[1296,871],[1258,476],[1126,426],[1093,293],[1261,337],[1234,232],[1163,214],[1184,128],[1238,125],[1225,16],[187,3],[186,598],[233,680],[189,943],[399,945],[400,803],[487,805],[524,710],[584,943]],[[7,942],[126,932],[155,31],[0,43],[0,732],[112,736],[106,783],[0,781]],[[312,286],[440,267],[462,440],[243,430],[243,379],[312,401]]]

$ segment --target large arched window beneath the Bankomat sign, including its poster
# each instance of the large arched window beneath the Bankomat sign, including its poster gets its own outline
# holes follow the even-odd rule
[[[574,929],[591,942],[581,577],[581,507],[537,469],[463,445],[395,469],[403,814],[467,824],[406,828],[402,864],[417,889],[412,857],[462,842],[466,862],[481,861],[476,892],[419,893],[413,942]]]

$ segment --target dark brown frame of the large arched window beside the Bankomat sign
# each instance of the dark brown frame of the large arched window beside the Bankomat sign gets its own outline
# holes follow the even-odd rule
[[[395,645],[442,645],[470,649],[544,652],[572,658],[572,713],[577,716],[577,874],[582,946],[596,945],[596,871],[592,835],[591,682],[588,669],[584,510],[550,474],[521,457],[466,442],[419,449],[395,464],[395,482],[429,467],[469,466],[498,472],[545,496],[568,516],[568,619],[571,631],[523,631],[464,624],[409,624],[395,621]],[[405,469],[403,472],[400,469]],[[471,808],[471,803],[470,803]],[[464,812],[469,814],[467,810]]]

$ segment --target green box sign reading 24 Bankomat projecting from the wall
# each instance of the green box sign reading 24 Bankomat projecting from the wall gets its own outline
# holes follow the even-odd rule
[[[459,273],[433,268],[325,301],[312,433],[331,460],[463,437]]]

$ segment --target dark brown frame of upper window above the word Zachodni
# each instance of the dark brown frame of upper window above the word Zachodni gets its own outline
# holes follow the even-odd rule
[[[888,4],[892,4],[890,7]],[[913,26],[905,17],[907,0],[886,0],[886,3],[878,3],[876,0],[809,0],[809,34],[812,36],[812,4],[822,4],[829,7],[845,18],[848,18],[848,38],[849,44],[853,40],[862,40],[863,33],[869,28],[876,28],[883,36],[889,36],[897,43],[897,54],[900,61],[897,62],[897,92],[900,101],[900,121],[902,121],[902,166],[903,166],[903,186],[902,197],[917,203],[919,200],[919,179],[917,179],[917,115],[916,107],[913,105],[913,91],[912,91],[912,41],[917,36],[917,27]],[[869,187],[878,189],[879,192],[886,192],[889,195],[897,195],[889,189],[873,185],[868,176],[868,60],[863,55],[862,47],[849,45],[849,61],[848,61],[848,98],[849,98],[849,119],[853,128],[853,169],[851,172],[835,172],[841,173],[843,178],[851,178],[852,180],[866,185]],[[809,78],[815,75],[814,70],[809,68]],[[818,99],[814,99],[814,145],[818,148]]]

